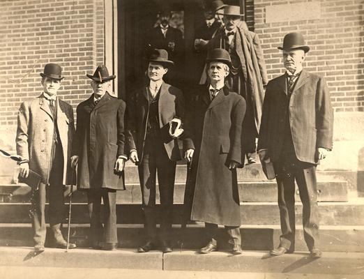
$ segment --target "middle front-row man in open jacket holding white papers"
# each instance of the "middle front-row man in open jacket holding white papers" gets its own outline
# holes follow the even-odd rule
[[[176,161],[181,159],[176,140],[182,130],[169,132],[176,118],[183,119],[184,98],[181,90],[163,82],[173,66],[166,50],[154,50],[148,59],[149,83],[135,91],[128,102],[126,144],[130,160],[138,165],[142,188],[142,209],[146,241],[138,252],[156,247],[156,171],[160,193],[160,246],[172,252],[169,234],[172,229],[172,206]],[[173,131],[174,130],[174,131]]]

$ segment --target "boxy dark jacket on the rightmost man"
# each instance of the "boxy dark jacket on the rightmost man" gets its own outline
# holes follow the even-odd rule
[[[323,77],[302,70],[289,104],[287,75],[281,75],[268,82],[258,150],[268,149],[268,156],[273,161],[278,160],[282,149],[285,148],[282,145],[285,119],[289,121],[298,160],[317,164],[317,148],[333,148],[333,108]]]

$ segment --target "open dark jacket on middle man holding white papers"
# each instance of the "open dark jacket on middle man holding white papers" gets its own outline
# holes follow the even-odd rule
[[[165,151],[167,152],[168,158],[173,161],[181,160],[181,153],[179,151],[178,140],[169,136],[169,121],[175,117],[183,120],[184,114],[185,99],[182,91],[162,82],[158,101],[158,120]],[[149,93],[148,87],[143,86],[132,93],[127,107],[126,149],[128,152],[136,149],[139,162],[142,162],[143,158],[148,116]]]

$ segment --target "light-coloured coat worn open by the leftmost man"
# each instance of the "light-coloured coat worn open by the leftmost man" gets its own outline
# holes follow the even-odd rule
[[[29,168],[42,176],[43,183],[48,183],[50,178],[54,121],[43,94],[22,103],[17,114],[17,154],[23,160],[29,160]],[[66,185],[72,178],[70,153],[75,123],[72,106],[59,98],[56,98],[56,127],[63,152],[63,184]]]

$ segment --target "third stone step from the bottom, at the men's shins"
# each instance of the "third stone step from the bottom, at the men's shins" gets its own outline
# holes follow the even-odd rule
[[[280,214],[276,202],[241,203],[241,224],[279,225]],[[157,206],[159,211],[159,206]],[[296,223],[302,223],[302,204],[296,203]],[[0,203],[1,223],[29,223],[30,204]],[[173,222],[181,223],[183,204],[174,204]],[[45,218],[47,220],[47,205]],[[65,213],[68,206],[65,205]],[[353,202],[321,202],[319,204],[321,225],[364,225],[364,199]],[[120,224],[143,223],[142,209],[139,204],[117,204],[117,222]],[[158,213],[157,213],[158,215]],[[66,216],[66,214],[65,214]],[[72,222],[88,223],[87,204],[73,204]],[[158,220],[158,216],[157,216]]]

